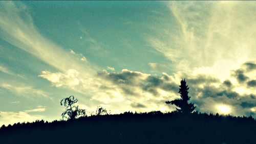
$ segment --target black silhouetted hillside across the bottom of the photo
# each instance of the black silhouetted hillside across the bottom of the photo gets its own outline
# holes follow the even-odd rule
[[[256,143],[252,117],[125,113],[0,129],[0,143]]]

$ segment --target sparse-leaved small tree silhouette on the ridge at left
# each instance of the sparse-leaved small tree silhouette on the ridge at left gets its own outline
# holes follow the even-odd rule
[[[69,98],[64,98],[60,101],[60,105],[64,105],[66,110],[62,112],[62,119],[75,119],[81,116],[87,116],[86,110],[79,109],[78,106],[74,106],[78,100],[71,95]]]

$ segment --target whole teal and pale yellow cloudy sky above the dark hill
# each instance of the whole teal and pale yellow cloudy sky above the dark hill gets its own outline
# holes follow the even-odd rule
[[[0,125],[169,112],[187,81],[206,113],[256,118],[256,2],[1,1]]]

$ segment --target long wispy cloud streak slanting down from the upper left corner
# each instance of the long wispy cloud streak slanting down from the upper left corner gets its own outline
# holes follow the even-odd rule
[[[22,3],[4,2],[0,6],[0,30],[5,41],[62,72],[76,69],[86,71],[84,75],[87,76],[95,73],[90,64],[81,63],[76,55],[70,55],[62,47],[42,36],[34,26],[29,9]]]

